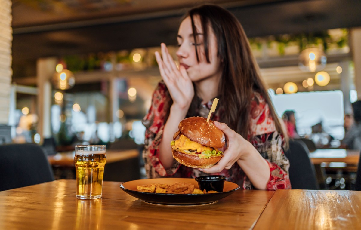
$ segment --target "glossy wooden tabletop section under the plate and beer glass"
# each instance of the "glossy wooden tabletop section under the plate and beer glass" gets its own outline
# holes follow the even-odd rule
[[[104,181],[103,196],[75,198],[74,180],[0,192],[0,229],[252,229],[273,191],[238,190],[215,204],[171,207],[142,202]]]

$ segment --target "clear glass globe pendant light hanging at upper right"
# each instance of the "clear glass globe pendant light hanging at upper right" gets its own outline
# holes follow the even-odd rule
[[[327,58],[319,48],[304,49],[299,56],[299,67],[304,72],[316,72],[326,67]]]

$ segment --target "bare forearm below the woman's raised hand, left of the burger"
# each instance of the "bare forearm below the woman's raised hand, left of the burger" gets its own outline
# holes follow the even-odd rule
[[[168,169],[173,164],[173,156],[170,147],[170,142],[173,141],[174,133],[178,131],[178,124],[187,115],[188,108],[181,109],[172,105],[168,120],[164,125],[162,141],[159,145],[159,160]]]

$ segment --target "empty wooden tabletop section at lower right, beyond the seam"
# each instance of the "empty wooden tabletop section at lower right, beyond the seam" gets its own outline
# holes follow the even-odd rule
[[[255,230],[360,229],[361,191],[277,190]]]

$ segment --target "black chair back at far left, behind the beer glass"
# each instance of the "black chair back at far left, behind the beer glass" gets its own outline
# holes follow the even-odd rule
[[[54,180],[48,159],[38,145],[1,145],[0,162],[0,191]]]

